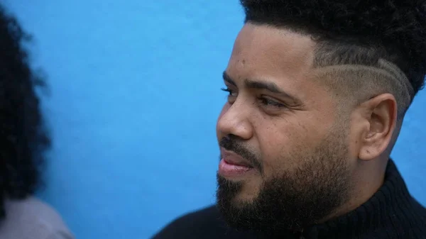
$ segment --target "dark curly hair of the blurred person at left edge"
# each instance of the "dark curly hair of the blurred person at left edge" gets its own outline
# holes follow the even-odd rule
[[[45,82],[28,64],[23,43],[31,40],[0,6],[0,216],[4,200],[25,199],[40,186],[50,138],[35,87]]]

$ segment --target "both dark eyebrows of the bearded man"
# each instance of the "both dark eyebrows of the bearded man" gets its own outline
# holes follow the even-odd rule
[[[224,81],[228,82],[229,84],[232,84],[236,86],[236,83],[234,82],[231,77],[229,77],[229,74],[226,73],[226,71],[223,74]],[[293,104],[297,106],[302,106],[302,100],[297,98],[296,96],[293,96],[292,94],[289,94],[282,89],[280,89],[275,83],[273,82],[266,82],[263,80],[252,80],[252,79],[246,79],[244,80],[244,84],[249,89],[264,89],[266,91],[270,91],[274,94],[279,94],[281,97],[285,99],[289,99]]]

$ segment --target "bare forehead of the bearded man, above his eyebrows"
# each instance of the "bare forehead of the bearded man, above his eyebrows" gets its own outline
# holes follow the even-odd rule
[[[305,35],[248,23],[236,38],[226,72],[234,79],[299,81],[312,69],[314,46]]]

